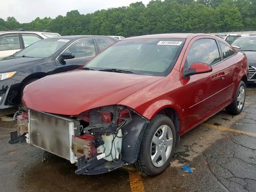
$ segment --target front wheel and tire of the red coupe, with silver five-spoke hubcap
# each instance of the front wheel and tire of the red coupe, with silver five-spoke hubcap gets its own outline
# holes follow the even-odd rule
[[[158,143],[158,146],[155,143]],[[162,173],[170,165],[175,143],[176,132],[172,120],[165,115],[157,114],[143,134],[140,152],[134,164],[136,169],[151,176]],[[166,158],[162,158],[162,155]]]

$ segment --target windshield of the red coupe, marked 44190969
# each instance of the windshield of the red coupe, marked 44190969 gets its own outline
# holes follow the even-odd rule
[[[180,54],[184,41],[170,38],[122,40],[104,50],[83,68],[167,76]]]

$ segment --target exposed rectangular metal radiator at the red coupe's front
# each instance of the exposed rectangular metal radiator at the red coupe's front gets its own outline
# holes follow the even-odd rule
[[[75,163],[71,150],[74,122],[60,116],[29,110],[28,142]]]

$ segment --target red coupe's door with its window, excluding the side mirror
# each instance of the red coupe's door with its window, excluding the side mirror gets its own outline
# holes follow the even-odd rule
[[[223,106],[228,91],[228,82],[222,79],[227,66],[221,61],[216,40],[200,38],[192,40],[188,47],[184,68],[189,68],[194,62],[202,62],[210,65],[212,72],[196,74],[182,80],[186,98],[182,133],[218,111]]]

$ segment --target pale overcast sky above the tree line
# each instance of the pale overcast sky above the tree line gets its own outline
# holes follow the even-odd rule
[[[93,13],[96,10],[129,6],[142,1],[145,5],[150,0],[1,0],[0,18],[6,20],[14,16],[20,23],[31,22],[37,17],[55,18],[65,16],[68,11],[78,10],[80,14]],[[0,2],[1,2],[0,1]]]

